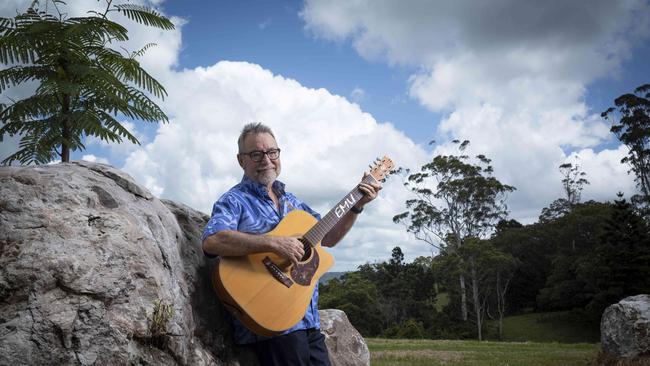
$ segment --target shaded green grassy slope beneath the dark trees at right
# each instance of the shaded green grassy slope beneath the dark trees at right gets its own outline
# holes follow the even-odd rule
[[[497,339],[496,322],[488,323],[487,338]],[[598,325],[583,323],[571,313],[532,313],[503,319],[503,340],[510,342],[597,343]]]

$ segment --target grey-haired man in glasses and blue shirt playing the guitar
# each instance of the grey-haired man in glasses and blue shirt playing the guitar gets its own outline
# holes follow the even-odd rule
[[[280,175],[280,149],[270,128],[261,123],[244,126],[239,139],[237,161],[244,170],[241,182],[215,202],[212,217],[203,232],[203,251],[207,256],[239,256],[273,252],[297,263],[303,244],[293,237],[264,236],[293,209],[320,215],[284,190],[276,180]],[[378,183],[360,183],[364,196],[332,230],[321,245],[333,247],[354,224],[368,202],[377,197]],[[277,337],[267,338],[249,331],[233,319],[235,343],[251,344],[261,365],[329,365],[324,336],[320,333],[318,286],[314,289],[305,316],[294,327]]]

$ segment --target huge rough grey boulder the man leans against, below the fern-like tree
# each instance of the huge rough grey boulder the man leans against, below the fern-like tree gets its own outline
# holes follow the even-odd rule
[[[0,168],[0,365],[257,365],[212,291],[207,220],[108,165]]]

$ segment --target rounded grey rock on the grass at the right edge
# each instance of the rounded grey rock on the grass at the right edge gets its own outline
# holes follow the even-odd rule
[[[623,358],[650,355],[650,295],[626,297],[605,309],[600,333],[607,354]]]

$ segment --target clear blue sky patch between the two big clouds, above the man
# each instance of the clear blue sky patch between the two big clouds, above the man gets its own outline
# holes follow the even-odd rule
[[[301,1],[217,1],[163,3],[165,12],[187,20],[179,67],[193,68],[215,60],[247,61],[356,100],[380,121],[398,124],[417,142],[433,138],[440,115],[408,98],[407,80],[414,66],[391,67],[360,57],[348,42],[318,39],[305,30]]]

